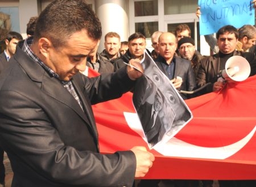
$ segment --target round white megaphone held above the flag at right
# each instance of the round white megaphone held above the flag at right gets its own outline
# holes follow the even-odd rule
[[[241,56],[232,56],[226,61],[225,70],[220,71],[218,81],[224,80],[242,81],[251,73],[249,62]]]

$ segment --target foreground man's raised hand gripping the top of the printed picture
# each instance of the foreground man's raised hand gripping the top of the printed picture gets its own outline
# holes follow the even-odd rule
[[[136,80],[144,73],[139,59],[130,59],[129,65],[127,65],[127,74],[131,80]]]

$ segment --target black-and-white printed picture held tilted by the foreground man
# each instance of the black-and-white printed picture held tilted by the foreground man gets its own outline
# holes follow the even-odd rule
[[[133,104],[148,146],[167,142],[192,119],[192,113],[176,88],[144,52],[144,75],[133,90]]]

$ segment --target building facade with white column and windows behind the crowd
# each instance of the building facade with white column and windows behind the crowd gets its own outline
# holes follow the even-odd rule
[[[134,32],[142,32],[151,50],[150,36],[155,31],[173,32],[178,24],[191,28],[191,37],[197,50],[210,53],[204,37],[199,36],[199,20],[196,17],[197,0],[85,0],[96,12],[102,24],[102,40],[99,51],[104,49],[104,36],[112,31],[125,41]],[[11,16],[11,27],[26,38],[26,25],[31,16],[39,15],[51,0],[0,0],[0,12]],[[65,5],[64,5],[65,6]],[[1,19],[1,18],[0,18]]]

